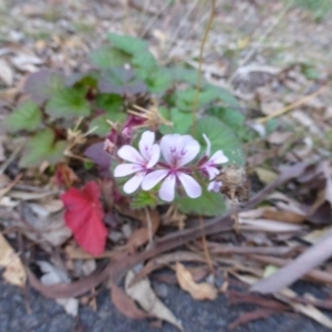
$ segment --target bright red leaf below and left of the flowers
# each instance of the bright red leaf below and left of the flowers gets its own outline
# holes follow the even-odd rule
[[[77,243],[94,256],[103,253],[107,236],[100,196],[100,187],[94,181],[87,183],[82,190],[71,188],[61,196],[66,226]]]

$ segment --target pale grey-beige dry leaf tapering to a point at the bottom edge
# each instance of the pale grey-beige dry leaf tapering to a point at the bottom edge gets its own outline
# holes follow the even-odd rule
[[[129,286],[135,273],[129,270],[125,279],[126,293],[151,315],[164,320],[184,331],[181,323],[174,317],[172,311],[157,298],[147,278]]]

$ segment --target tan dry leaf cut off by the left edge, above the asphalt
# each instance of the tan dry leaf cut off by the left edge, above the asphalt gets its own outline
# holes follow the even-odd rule
[[[9,283],[23,287],[27,273],[18,253],[11,248],[3,235],[0,232],[0,267],[4,268],[2,277]]]

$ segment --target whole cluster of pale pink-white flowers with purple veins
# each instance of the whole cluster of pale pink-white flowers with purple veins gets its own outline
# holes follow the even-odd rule
[[[132,145],[124,145],[117,155],[125,162],[114,169],[114,177],[133,175],[124,185],[126,194],[136,191],[139,186],[143,190],[151,190],[158,185],[158,195],[165,201],[175,198],[176,189],[183,187],[190,198],[201,195],[201,185],[197,175],[209,180],[208,190],[219,191],[220,181],[216,176],[220,173],[218,165],[227,163],[228,158],[222,151],[217,151],[210,157],[210,141],[206,135],[207,151],[196,163],[190,163],[200,151],[199,143],[190,135],[168,134],[155,143],[155,133],[146,131],[138,143],[138,151]],[[160,158],[162,157],[162,158]]]

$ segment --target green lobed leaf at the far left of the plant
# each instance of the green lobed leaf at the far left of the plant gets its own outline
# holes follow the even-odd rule
[[[28,142],[19,165],[31,167],[39,166],[43,162],[55,165],[63,159],[65,148],[65,141],[54,142],[53,131],[43,129]]]

